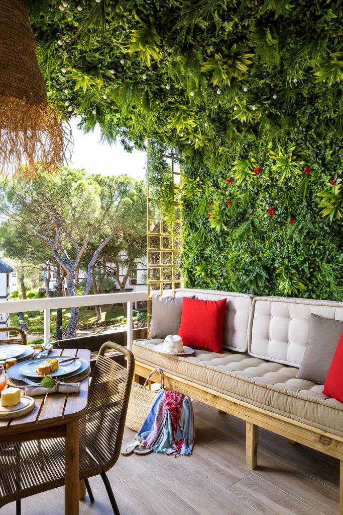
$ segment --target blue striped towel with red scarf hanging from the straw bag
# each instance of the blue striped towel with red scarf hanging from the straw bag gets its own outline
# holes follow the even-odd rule
[[[189,397],[161,390],[136,438],[155,452],[175,456],[192,454],[195,431]]]

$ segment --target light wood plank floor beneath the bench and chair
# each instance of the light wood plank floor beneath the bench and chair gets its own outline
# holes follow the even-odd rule
[[[337,515],[338,460],[259,430],[258,468],[244,467],[244,423],[194,403],[192,456],[121,456],[108,473],[121,515]],[[125,441],[134,432],[125,431]],[[112,515],[100,477],[82,515]],[[23,515],[63,515],[63,489],[22,501]],[[14,515],[10,504],[0,510]],[[68,514],[66,514],[68,515]]]

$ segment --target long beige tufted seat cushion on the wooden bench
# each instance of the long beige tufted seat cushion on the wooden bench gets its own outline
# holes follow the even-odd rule
[[[166,356],[153,347],[162,339],[132,344],[136,359],[183,379],[210,387],[255,406],[343,436],[343,404],[322,393],[323,386],[296,379],[298,369],[245,353],[195,351],[192,356]]]

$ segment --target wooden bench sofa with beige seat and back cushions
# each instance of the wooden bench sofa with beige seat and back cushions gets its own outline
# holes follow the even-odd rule
[[[310,314],[343,320],[343,303],[192,289],[175,295],[227,299],[224,352],[167,356],[153,350],[162,339],[137,340],[131,347],[136,380],[161,367],[167,388],[245,420],[251,470],[257,466],[258,426],[338,458],[343,515],[343,404],[327,398],[322,385],[296,379]]]

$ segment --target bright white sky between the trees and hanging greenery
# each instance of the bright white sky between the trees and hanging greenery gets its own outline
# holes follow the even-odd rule
[[[84,132],[78,129],[78,119],[70,120],[70,127],[74,139],[74,149],[71,168],[85,168],[91,174],[121,175],[127,174],[135,179],[144,179],[146,153],[139,150],[126,152],[120,142],[116,145],[101,143],[99,125],[93,132]]]

